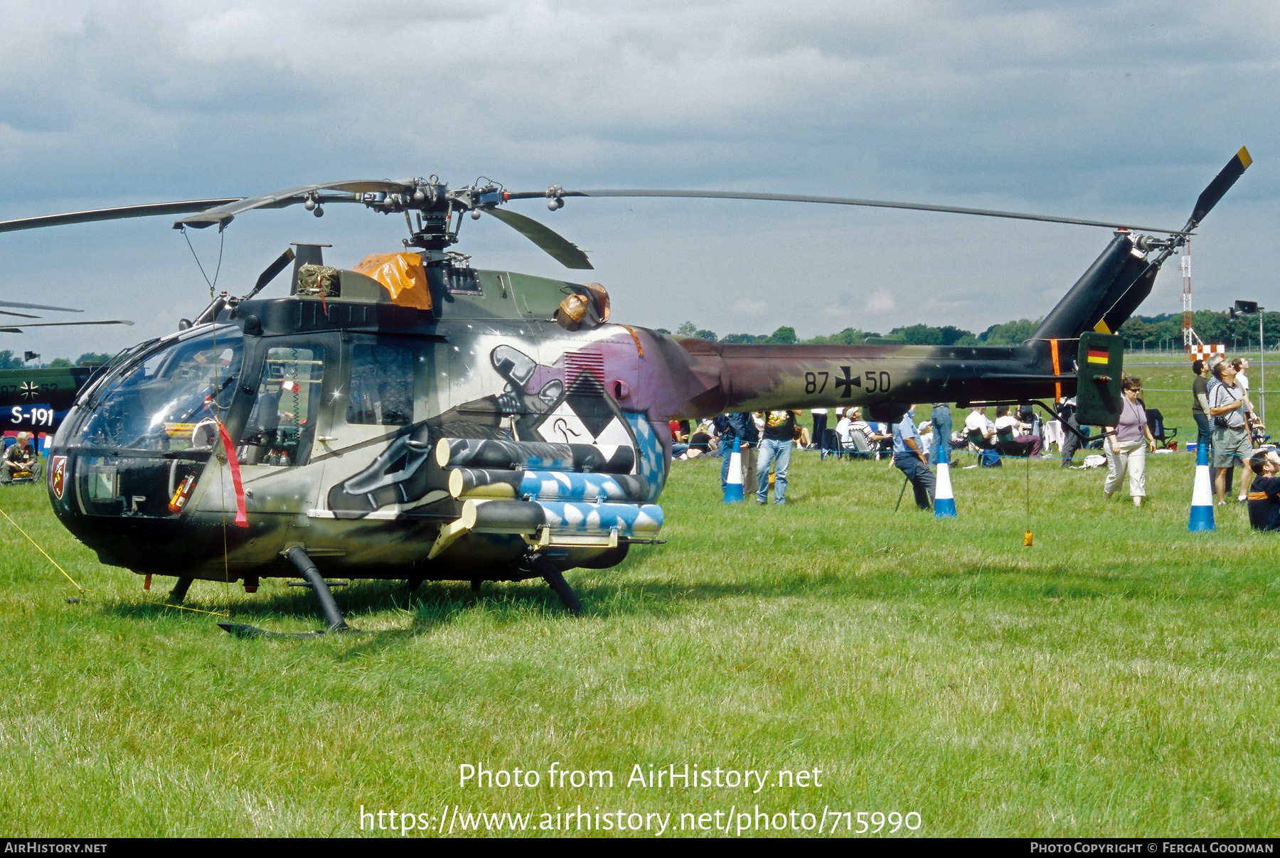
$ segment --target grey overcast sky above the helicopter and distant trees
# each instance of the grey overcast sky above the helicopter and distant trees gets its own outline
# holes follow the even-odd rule
[[[1197,308],[1280,309],[1280,4],[712,0],[59,0],[0,4],[0,220],[438,174],[509,189],[708,188],[905,199],[1180,228]],[[617,321],[801,336],[1046,313],[1101,229],[762,202],[518,203],[586,249]],[[219,235],[192,231],[210,276]],[[241,215],[218,289],[289,242],[349,266],[398,217]],[[581,279],[492,219],[477,267]],[[0,349],[115,352],[200,312],[170,219],[0,234],[0,299],[132,329],[31,329]],[[283,283],[283,279],[282,281]],[[1176,258],[1140,313],[1180,311]],[[81,316],[84,318],[86,316]],[[46,329],[46,331],[50,329]],[[73,332],[69,332],[73,331]]]

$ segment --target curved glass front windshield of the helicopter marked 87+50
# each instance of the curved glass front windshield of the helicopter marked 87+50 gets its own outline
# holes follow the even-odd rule
[[[236,393],[243,339],[236,326],[170,343],[95,391],[77,444],[131,450],[209,448]]]

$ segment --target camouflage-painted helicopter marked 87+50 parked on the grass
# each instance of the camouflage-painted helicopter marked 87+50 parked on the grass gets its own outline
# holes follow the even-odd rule
[[[333,632],[347,625],[325,575],[411,588],[544,578],[580,610],[564,570],[609,568],[631,545],[657,541],[673,418],[837,402],[895,421],[913,402],[1030,402],[1079,389],[1082,410],[1088,394],[1105,412],[1098,422],[1114,422],[1120,347],[1108,332],[1249,162],[1242,148],[1180,230],[838,197],[451,189],[431,176],[73,212],[0,231],[147,215],[221,230],[253,208],[320,215],[339,202],[404,214],[403,252],[338,270],[319,247],[297,246],[244,297],[223,293],[177,332],[118,355],[81,391],[50,451],[54,511],[102,563],[148,583],[177,575],[175,600],[197,578],[253,591],[262,578],[302,577]],[[611,322],[599,284],[479,270],[449,249],[463,216],[490,215],[588,270],[571,242],[503,208],[538,198],[556,211],[588,197],[919,208],[1115,235],[1030,339],[983,348],[672,338]],[[259,298],[291,262],[289,294]]]

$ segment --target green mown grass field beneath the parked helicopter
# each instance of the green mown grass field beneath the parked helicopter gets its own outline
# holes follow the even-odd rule
[[[1192,425],[1184,366],[1133,371]],[[792,463],[785,508],[722,505],[718,462],[677,463],[668,545],[570,573],[580,618],[540,583],[357,583],[337,597],[371,633],[317,639],[160,606],[172,581],[145,593],[42,488],[0,490],[86,591],[0,517],[0,834],[349,836],[361,808],[366,834],[396,811],[429,834],[511,812],[563,835],[577,808],[567,834],[658,834],[662,815],[668,835],[776,834],[777,813],[785,834],[846,834],[858,812],[919,815],[897,836],[1276,834],[1276,537],[1240,505],[1188,533],[1185,454],[1148,459],[1143,509],[1103,504],[1105,469],[956,468],[954,520],[910,491],[895,513],[884,463]],[[187,605],[319,625],[283,586],[197,582]],[[686,763],[769,774],[628,783]],[[539,783],[462,784],[468,765]]]

